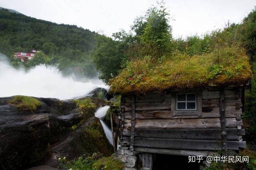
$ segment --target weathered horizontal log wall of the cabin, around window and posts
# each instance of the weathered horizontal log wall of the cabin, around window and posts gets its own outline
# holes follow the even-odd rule
[[[228,149],[245,147],[240,91],[224,90]],[[134,147],[190,150],[221,149],[220,92],[202,92],[202,116],[171,114],[172,94],[136,96]],[[121,98],[120,143],[130,143],[132,96]]]

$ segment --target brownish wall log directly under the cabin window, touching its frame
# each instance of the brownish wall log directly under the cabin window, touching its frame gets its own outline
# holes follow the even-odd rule
[[[125,119],[131,119],[131,111],[122,113]],[[227,113],[226,117],[237,117],[240,113]],[[202,113],[204,118],[220,117],[220,113]],[[198,115],[175,115],[172,117],[170,110],[148,110],[136,111],[136,119],[192,119],[198,118]]]

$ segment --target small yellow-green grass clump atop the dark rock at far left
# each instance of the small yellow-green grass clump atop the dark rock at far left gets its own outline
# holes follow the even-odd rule
[[[28,96],[14,96],[14,98],[9,100],[7,103],[15,106],[20,110],[31,112],[34,112],[39,106],[41,106],[39,100]]]

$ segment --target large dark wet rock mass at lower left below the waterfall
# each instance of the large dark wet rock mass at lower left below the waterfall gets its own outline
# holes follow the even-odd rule
[[[0,169],[57,168],[60,156],[112,153],[94,108],[81,111],[74,100],[36,98],[41,105],[32,113],[10,105],[12,99],[0,98]]]

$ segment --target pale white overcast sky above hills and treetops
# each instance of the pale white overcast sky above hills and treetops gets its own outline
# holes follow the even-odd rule
[[[0,0],[0,6],[34,18],[77,25],[111,36],[130,30],[156,0]],[[172,34],[183,38],[239,23],[256,6],[256,0],[166,0]]]

